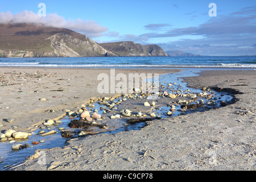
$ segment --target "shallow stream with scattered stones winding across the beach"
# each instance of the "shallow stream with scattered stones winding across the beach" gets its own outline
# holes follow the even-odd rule
[[[205,88],[204,90],[189,88],[187,86],[187,83],[183,82],[183,79],[181,79],[181,77],[197,76],[197,73],[199,72],[200,69],[183,68],[183,70],[178,73],[167,73],[164,75],[159,75],[160,94],[155,100],[148,100],[148,96],[146,94],[134,93],[133,96],[136,97],[131,97],[130,95],[127,96],[127,94],[123,94],[119,98],[106,101],[108,102],[108,104],[119,103],[118,105],[114,105],[111,109],[109,109],[106,104],[102,105],[102,102],[97,101],[91,105],[86,105],[86,109],[91,111],[91,113],[97,111],[98,114],[101,114],[103,119],[98,119],[96,122],[101,123],[101,126],[106,126],[98,127],[97,125],[95,125],[94,127],[90,127],[90,131],[92,131],[91,134],[113,134],[121,131],[140,130],[142,127],[145,126],[145,122],[131,124],[127,122],[127,120],[129,118],[152,118],[152,116],[150,116],[150,113],[154,113],[155,119],[161,119],[189,114],[195,111],[203,112],[209,109],[218,109],[225,105],[223,103],[227,103],[232,100],[232,94],[225,92],[216,92],[216,90],[211,90],[209,88]],[[144,78],[144,81],[147,81],[147,78]],[[164,95],[163,93],[165,91],[168,94],[177,94],[176,102],[172,102],[173,99],[170,98],[168,94]],[[192,95],[196,95],[197,97],[193,98]],[[151,104],[152,101],[155,102],[154,106],[146,107],[143,105],[144,102],[148,102]],[[186,109],[186,105],[192,106],[191,109]],[[196,107],[196,105],[200,106]],[[137,111],[133,110],[133,107],[131,107],[131,117],[122,117],[121,109],[126,109],[126,107],[128,106],[138,106]],[[104,107],[105,109],[102,109],[102,107]],[[146,109],[143,110],[144,108]],[[112,115],[118,116],[110,119],[110,116]],[[79,132],[81,129],[71,128],[68,126],[72,119],[79,120],[80,115],[67,115],[66,117],[61,119],[60,123],[51,126],[42,125],[42,127],[38,127],[38,129],[33,131],[27,139],[17,139],[15,140],[15,142],[0,142],[0,170],[9,170],[14,168],[15,166],[18,166],[19,164],[22,164],[28,156],[31,156],[35,153],[35,150],[43,148],[63,147],[68,139],[79,137]],[[56,133],[46,136],[42,136],[39,134],[40,131],[47,132],[51,130],[55,130]],[[63,131],[69,131],[72,133],[72,135],[65,138],[61,136],[61,133],[63,133]],[[83,138],[86,139],[86,135],[83,136]],[[39,143],[32,144],[32,142]],[[26,146],[26,144],[28,144],[28,147],[24,147],[20,150],[12,150],[12,146],[14,144],[22,144],[23,146]]]

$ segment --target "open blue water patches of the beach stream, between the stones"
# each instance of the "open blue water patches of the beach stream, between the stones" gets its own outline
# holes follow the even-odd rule
[[[195,71],[195,69],[184,69],[183,71],[178,72],[178,73],[168,73],[168,74],[164,74],[164,75],[159,75],[159,82],[162,85],[166,85],[165,88],[162,88],[162,89],[168,90],[169,92],[170,92],[170,90],[180,90],[180,93],[184,93],[184,94],[201,93],[202,90],[200,90],[200,89],[188,88],[187,83],[182,82],[183,80],[181,78],[179,78],[179,77],[197,76],[196,73],[198,73],[198,72],[200,72],[200,69],[196,69],[196,71]],[[146,79],[144,81],[146,81]],[[169,83],[172,83],[172,86],[167,86]],[[209,102],[204,98],[198,98],[197,100],[195,100],[194,102],[191,102],[190,104],[195,104],[196,101],[203,99],[205,105],[207,105],[206,108],[202,107],[200,109],[181,111],[181,109],[182,109],[180,107],[181,105],[176,104],[176,110],[172,111],[173,114],[171,117],[181,115],[181,114],[189,114],[193,111],[205,111],[210,108],[217,108],[217,107],[220,107],[220,100],[221,101],[230,101],[233,98],[228,93],[218,93],[216,91],[214,91],[213,95],[214,95],[214,98],[216,98],[216,100],[215,100],[216,102],[214,105],[212,104],[212,102]],[[141,100],[146,101],[147,99],[142,98]],[[116,99],[114,101],[118,102],[118,99]],[[151,101],[153,101],[153,100],[151,100]],[[208,105],[207,102],[209,102],[210,105]],[[122,102],[122,105],[123,104],[125,104],[125,101]],[[94,105],[93,109],[98,109],[98,113],[102,114],[103,110],[100,110],[100,107],[102,105],[98,104],[97,102],[95,102],[93,105]],[[208,108],[208,106],[209,106],[209,108]],[[87,109],[88,110],[92,109],[92,107],[87,107]],[[158,110],[154,110],[154,112],[156,115],[160,115],[162,118],[167,118],[167,117],[170,117],[166,114],[167,111],[169,111],[169,110],[170,110],[170,106],[162,105],[162,106],[158,106]],[[102,114],[102,116],[104,116],[104,114]],[[79,119],[79,117],[74,118],[74,119]],[[56,126],[52,126],[49,128],[46,127],[46,129],[43,129],[44,131],[56,130],[57,133],[53,134],[53,135],[47,135],[47,136],[42,137],[41,135],[38,134],[40,131],[42,131],[42,129],[37,129],[34,132],[32,132],[32,135],[29,136],[28,139],[16,140],[15,143],[11,143],[11,144],[10,144],[10,142],[1,142],[0,143],[0,158],[1,158],[0,161],[2,161],[2,163],[0,163],[0,170],[3,170],[4,167],[6,167],[7,165],[13,166],[14,164],[23,162],[23,160],[25,160],[28,156],[33,155],[35,150],[37,150],[37,149],[63,147],[68,138],[61,137],[59,127],[64,127],[65,130],[70,130],[70,131],[75,130],[77,132],[79,131],[79,129],[70,129],[68,127],[68,123],[70,121],[71,121],[71,117],[67,116],[67,117],[64,117],[63,119],[61,119],[61,123],[57,124]],[[92,129],[96,133],[97,132],[118,133],[120,131],[139,130],[142,127],[144,127],[144,123],[137,123],[135,125],[127,125],[126,117],[123,117],[120,119],[106,118],[99,122],[108,123],[109,129],[102,130],[98,127],[93,127]],[[77,137],[77,133],[73,137]],[[39,143],[38,145],[31,144],[32,142],[39,141],[39,140],[44,140],[45,142]],[[20,143],[20,144],[27,143],[27,144],[29,144],[29,147],[23,148],[22,150],[18,150],[18,151],[11,150],[11,146],[13,144],[18,144],[18,143]],[[5,169],[10,169],[11,166],[6,167]]]

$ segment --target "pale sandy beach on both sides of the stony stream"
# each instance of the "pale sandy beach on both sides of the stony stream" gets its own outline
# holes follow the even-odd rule
[[[109,69],[1,68],[1,132],[32,132],[99,94],[97,76]],[[178,69],[115,69],[116,73],[172,73]],[[46,164],[27,161],[15,170],[255,170],[255,71],[204,71],[184,77],[193,88],[225,90],[233,104],[203,113],[148,121],[141,130],[97,134],[44,149]],[[5,80],[5,82],[3,82]],[[45,98],[46,101],[43,101]],[[131,106],[127,106],[128,108]]]

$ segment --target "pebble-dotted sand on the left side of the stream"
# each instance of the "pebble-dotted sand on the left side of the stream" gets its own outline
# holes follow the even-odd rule
[[[153,73],[154,76],[154,73],[177,71],[115,69],[115,75],[124,73],[128,78],[129,73]],[[16,130],[30,132],[47,119],[64,117],[65,110],[77,110],[77,107],[87,104],[90,98],[117,95],[100,94],[97,91],[101,82],[97,80],[98,75],[110,75],[110,69],[0,68],[0,73],[0,82],[6,85],[0,84],[1,131],[15,125],[18,126]],[[42,98],[46,101],[41,101]],[[13,122],[7,122],[9,118]]]

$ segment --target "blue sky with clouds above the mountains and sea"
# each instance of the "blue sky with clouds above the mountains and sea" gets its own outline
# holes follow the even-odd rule
[[[46,16],[39,16],[42,12]],[[255,0],[1,0],[0,23],[69,28],[98,43],[134,41],[164,51],[256,55]]]

